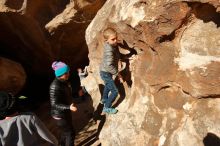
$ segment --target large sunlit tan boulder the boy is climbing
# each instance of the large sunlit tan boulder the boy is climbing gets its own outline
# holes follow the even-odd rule
[[[219,6],[218,0],[108,0],[98,11],[86,30],[90,73],[83,81],[94,106],[103,86],[101,32],[113,27],[121,52],[137,52],[124,63],[119,112],[107,115],[102,145],[203,146],[220,137]]]

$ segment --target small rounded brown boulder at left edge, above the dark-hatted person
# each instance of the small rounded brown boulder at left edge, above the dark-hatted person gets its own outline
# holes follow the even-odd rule
[[[26,81],[24,68],[16,62],[2,57],[0,57],[0,76],[0,90],[14,95],[22,89]]]

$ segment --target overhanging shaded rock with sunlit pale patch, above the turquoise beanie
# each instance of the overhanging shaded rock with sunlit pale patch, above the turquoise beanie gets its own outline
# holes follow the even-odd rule
[[[46,24],[56,58],[66,60],[74,68],[88,64],[85,30],[104,2],[71,1],[62,13]]]

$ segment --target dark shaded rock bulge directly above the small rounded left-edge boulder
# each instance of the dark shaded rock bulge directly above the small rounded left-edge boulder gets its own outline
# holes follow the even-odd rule
[[[39,25],[16,13],[1,13],[0,19],[1,55],[20,62],[28,73],[47,73],[53,54]]]

